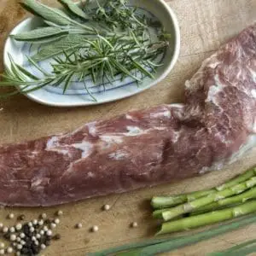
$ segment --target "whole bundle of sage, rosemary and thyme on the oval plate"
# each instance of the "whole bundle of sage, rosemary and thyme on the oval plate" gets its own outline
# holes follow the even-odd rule
[[[21,5],[44,20],[44,26],[11,37],[18,41],[41,44],[38,54],[27,56],[40,76],[16,64],[9,55],[10,68],[2,74],[0,86],[19,86],[23,94],[46,85],[60,86],[63,94],[73,79],[84,83],[84,90],[96,101],[86,84],[112,84],[119,75],[140,82],[154,78],[160,66],[157,58],[169,45],[160,24],[127,5],[126,0],[96,1],[96,8],[87,2],[80,6],[71,0],[58,0],[63,10],[51,8],[36,0],[24,0]],[[157,23],[157,22],[156,22]],[[49,44],[50,43],[50,44]],[[39,67],[38,61],[49,59],[51,71]],[[15,91],[3,96],[18,93]]]

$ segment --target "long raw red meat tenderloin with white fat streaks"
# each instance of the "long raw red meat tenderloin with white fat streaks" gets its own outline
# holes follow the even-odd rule
[[[185,104],[0,147],[0,202],[51,206],[218,169],[256,140],[256,24],[203,62]]]

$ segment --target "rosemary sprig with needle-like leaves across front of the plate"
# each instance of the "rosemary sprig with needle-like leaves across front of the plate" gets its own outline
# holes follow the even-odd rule
[[[4,81],[2,86],[20,86],[20,92],[26,94],[33,90],[38,90],[46,85],[59,86],[64,83],[63,94],[69,88],[71,81],[77,79],[84,81],[90,79],[96,84],[102,79],[102,84],[109,83],[119,74],[131,77],[140,82],[134,71],[138,70],[142,75],[153,78],[152,73],[144,66],[144,63],[152,65],[155,52],[160,53],[165,49],[165,45],[149,44],[148,41],[140,41],[140,46],[136,42],[121,40],[120,38],[103,38],[98,36],[96,40],[84,39],[84,47],[74,49],[73,52],[63,51],[63,57],[54,57],[55,62],[51,62],[51,73],[27,57],[32,67],[35,67],[43,77],[39,78],[27,71],[24,67],[16,64],[12,56],[9,55],[11,69],[2,75]],[[99,81],[101,82],[101,81]],[[84,85],[90,96],[90,89]],[[96,100],[95,97],[92,97]]]

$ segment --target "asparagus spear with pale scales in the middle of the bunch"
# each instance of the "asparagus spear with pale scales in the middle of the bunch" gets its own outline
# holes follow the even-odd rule
[[[170,220],[187,212],[195,212],[195,210],[199,209],[200,207],[206,206],[207,204],[215,201],[223,200],[224,198],[230,197],[231,195],[241,194],[243,191],[252,188],[255,185],[256,177],[251,177],[246,182],[239,183],[233,187],[230,187],[229,189],[224,189],[222,191],[212,193],[195,201],[190,201],[183,205],[173,207],[168,211],[162,212],[162,218],[165,220]]]

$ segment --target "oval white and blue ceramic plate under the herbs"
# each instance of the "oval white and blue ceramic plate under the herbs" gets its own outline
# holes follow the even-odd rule
[[[146,12],[147,15],[154,17],[156,20],[160,20],[161,24],[165,27],[166,32],[171,33],[170,45],[166,50],[165,55],[160,56],[162,58],[163,66],[159,67],[157,73],[154,74],[155,79],[145,78],[143,82],[137,86],[137,83],[133,82],[130,78],[120,81],[117,78],[113,84],[92,84],[88,81],[87,84],[93,86],[90,91],[96,97],[97,102],[94,102],[90,95],[88,95],[84,89],[83,84],[73,81],[70,89],[66,94],[62,94],[61,86],[53,87],[46,86],[43,89],[35,90],[28,93],[26,96],[35,102],[39,102],[49,106],[55,107],[77,107],[101,104],[105,102],[113,102],[125,97],[133,96],[137,93],[147,90],[148,88],[159,83],[160,80],[165,79],[166,75],[171,72],[174,67],[180,50],[180,32],[177,24],[176,15],[172,12],[172,9],[165,3],[164,0],[130,0],[131,5],[137,6],[140,11]],[[11,32],[16,34],[19,32],[30,31],[42,24],[42,20],[37,17],[29,18],[20,22],[18,26]],[[10,67],[9,54],[14,57],[17,64],[28,68],[32,73],[38,71],[29,66],[26,61],[26,55],[34,55],[40,49],[40,45],[32,46],[31,44],[17,42],[12,38],[8,38],[4,47],[3,61],[6,68]],[[48,61],[39,62],[41,67],[47,69],[49,67]],[[88,85],[87,85],[88,86]]]

